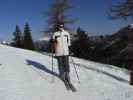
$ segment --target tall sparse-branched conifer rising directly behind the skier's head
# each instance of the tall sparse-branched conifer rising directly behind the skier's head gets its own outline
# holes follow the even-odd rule
[[[48,17],[48,30],[47,32],[58,31],[60,24],[64,25],[65,29],[68,29],[68,24],[73,24],[74,19],[67,16],[67,12],[72,8],[69,0],[54,0],[53,4],[50,6],[46,16]]]

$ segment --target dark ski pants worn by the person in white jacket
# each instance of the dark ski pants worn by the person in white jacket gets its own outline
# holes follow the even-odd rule
[[[70,72],[69,56],[57,56],[56,58],[58,60],[58,68],[60,76],[64,75],[65,72],[69,74]]]

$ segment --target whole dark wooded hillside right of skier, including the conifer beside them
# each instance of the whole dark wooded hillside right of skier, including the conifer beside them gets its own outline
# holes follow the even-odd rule
[[[131,69],[129,55],[133,57],[133,48],[129,44],[132,34],[133,28],[130,26],[105,36],[88,36],[86,31],[78,28],[72,39],[71,52],[76,57]]]

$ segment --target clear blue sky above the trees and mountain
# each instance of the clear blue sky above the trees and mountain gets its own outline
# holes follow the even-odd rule
[[[71,0],[75,6],[70,15],[78,18],[73,30],[81,27],[91,35],[111,34],[131,24],[130,21],[109,20],[106,12],[111,4],[118,0]],[[0,0],[0,39],[11,40],[12,33],[18,24],[23,31],[28,22],[34,39],[46,28],[46,17],[43,12],[48,10],[53,0]]]

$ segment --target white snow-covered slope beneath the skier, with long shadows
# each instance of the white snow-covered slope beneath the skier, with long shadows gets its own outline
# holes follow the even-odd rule
[[[73,93],[58,78],[57,60],[54,73],[51,62],[50,56],[0,45],[0,100],[133,100],[127,70],[70,57]]]

